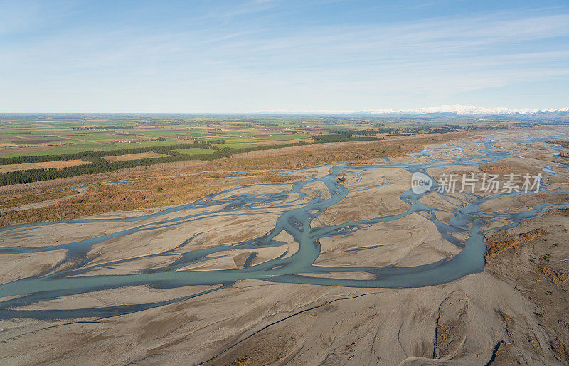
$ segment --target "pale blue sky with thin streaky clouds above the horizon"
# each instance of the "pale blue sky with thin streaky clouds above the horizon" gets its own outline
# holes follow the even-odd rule
[[[569,107],[569,1],[0,0],[0,112]]]

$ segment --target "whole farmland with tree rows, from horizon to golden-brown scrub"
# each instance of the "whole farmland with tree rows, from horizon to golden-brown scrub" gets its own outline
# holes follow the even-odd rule
[[[469,131],[469,124],[373,118],[191,114],[0,114],[0,185],[117,171],[155,163],[329,142]],[[477,127],[478,128],[478,127]]]

